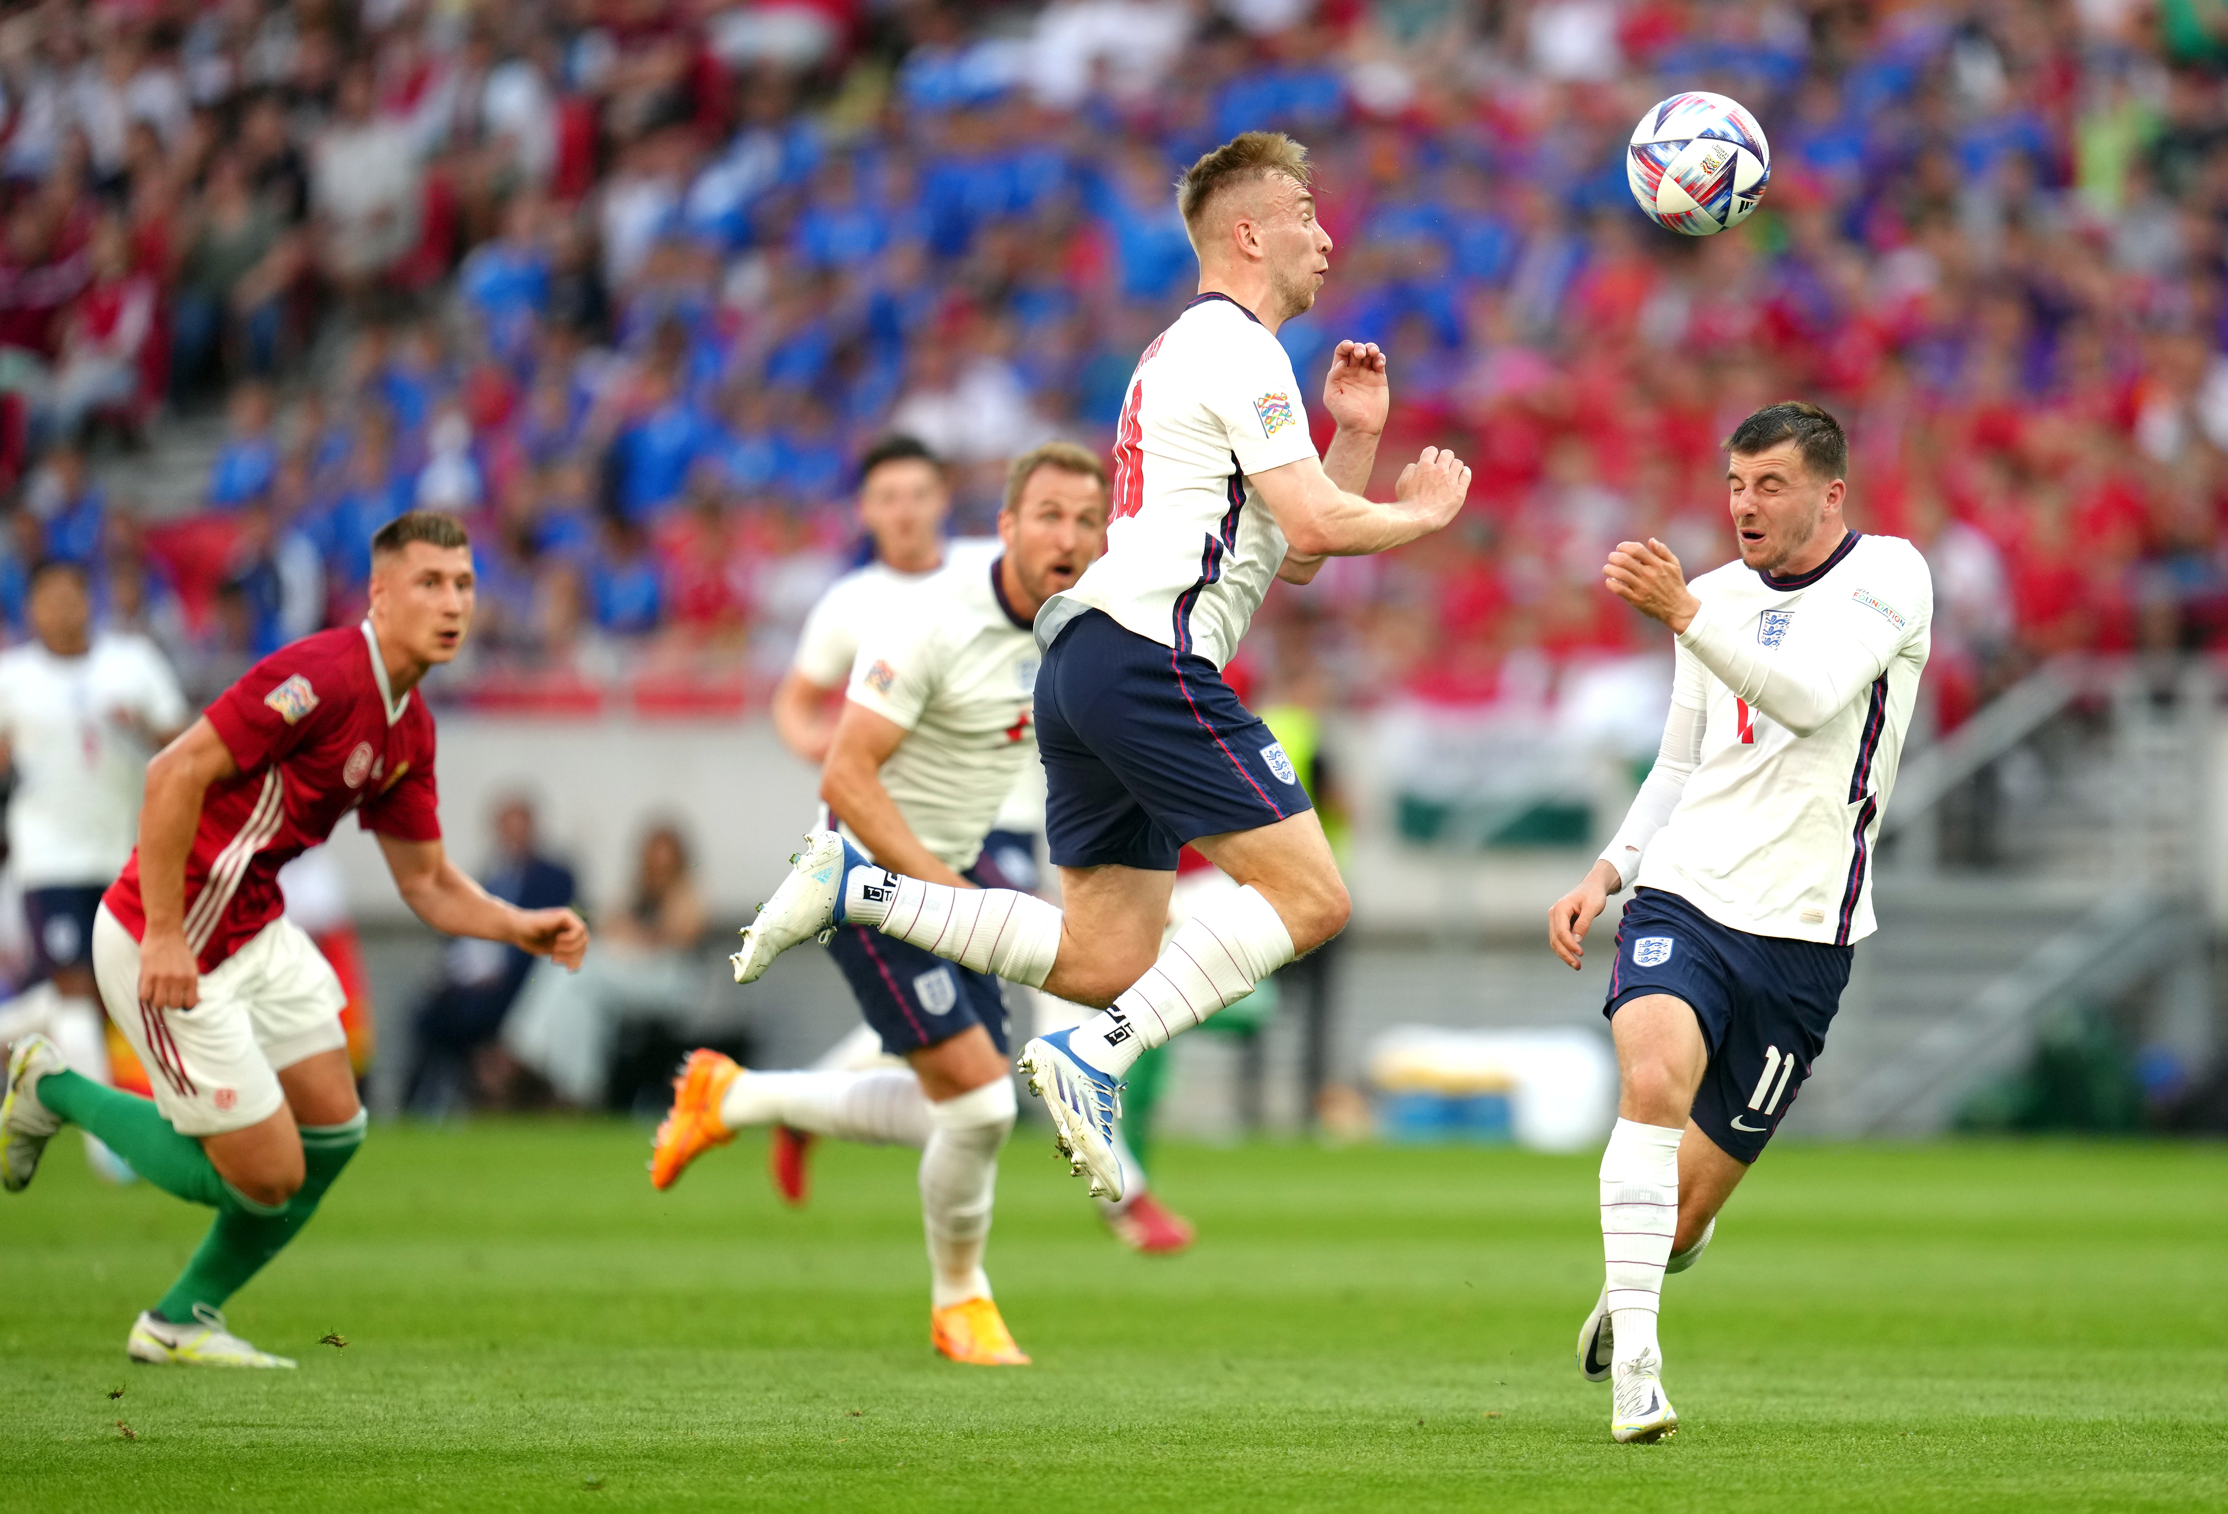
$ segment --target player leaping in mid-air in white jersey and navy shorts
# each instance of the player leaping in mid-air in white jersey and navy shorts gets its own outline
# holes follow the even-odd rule
[[[1221,666],[1272,579],[1384,552],[1462,510],[1470,470],[1424,448],[1393,503],[1368,485],[1386,421],[1386,358],[1339,343],[1317,459],[1277,327],[1315,305],[1330,236],[1306,149],[1248,131],[1183,176],[1199,298],[1139,358],[1114,441],[1107,554],[1036,617],[1045,833],[1063,908],[869,864],[815,833],[744,931],[735,975],[789,946],[869,926],[974,971],[1105,1009],[1020,1055],[1061,1147],[1118,1198],[1114,1104],[1147,1046],[1196,1026],[1346,926],[1346,884],[1299,773]],[[1239,882],[1161,946],[1176,853],[1194,844]]]

